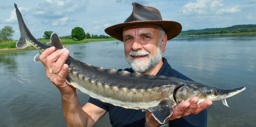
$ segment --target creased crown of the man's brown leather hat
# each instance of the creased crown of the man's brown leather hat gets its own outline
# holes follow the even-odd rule
[[[124,21],[133,22],[139,20],[162,20],[161,13],[154,7],[143,6],[138,3],[132,3],[132,14]]]

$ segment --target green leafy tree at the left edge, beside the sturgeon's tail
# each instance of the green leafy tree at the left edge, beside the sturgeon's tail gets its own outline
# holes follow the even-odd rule
[[[12,26],[4,26],[4,28],[0,30],[0,41],[11,40],[14,32]]]

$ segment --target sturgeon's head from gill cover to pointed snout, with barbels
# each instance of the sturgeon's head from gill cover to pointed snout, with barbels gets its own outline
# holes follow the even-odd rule
[[[184,84],[174,90],[174,100],[177,104],[183,101],[189,101],[192,97],[198,97],[200,104],[204,100],[218,101],[222,100],[227,106],[226,98],[232,97],[245,90],[245,87],[235,89],[220,89],[212,86],[203,85],[200,83]]]

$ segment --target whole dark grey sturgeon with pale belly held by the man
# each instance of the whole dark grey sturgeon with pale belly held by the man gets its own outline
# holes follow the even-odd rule
[[[37,41],[26,26],[17,4],[17,20],[21,37],[17,41],[17,48],[33,46],[39,53],[34,57],[35,62],[41,62],[40,54],[47,48],[54,46],[62,49],[62,42],[56,33],[51,34],[51,42],[47,44]],[[222,100],[227,105],[226,98],[232,97],[246,88],[220,89],[200,83],[185,81],[175,77],[144,75],[138,72],[117,71],[94,67],[89,63],[68,57],[69,67],[66,82],[83,93],[115,106],[131,109],[148,109],[154,118],[163,124],[169,118],[175,105],[189,101],[191,97],[198,97],[200,104],[204,100]]]

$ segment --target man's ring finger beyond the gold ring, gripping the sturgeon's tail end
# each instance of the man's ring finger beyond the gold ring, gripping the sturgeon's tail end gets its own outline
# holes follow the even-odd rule
[[[69,55],[69,51],[66,48],[63,49],[65,49],[64,52],[60,55],[58,60],[52,66],[52,70],[56,73],[59,73],[60,70],[63,68],[63,65],[66,62]]]

